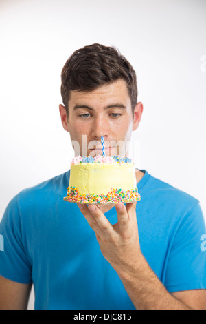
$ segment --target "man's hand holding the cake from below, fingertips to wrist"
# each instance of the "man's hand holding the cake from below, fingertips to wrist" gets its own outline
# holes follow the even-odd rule
[[[136,216],[137,202],[115,205],[118,222],[106,219],[98,205],[78,204],[85,219],[95,231],[104,258],[111,263],[119,276],[125,268],[134,269],[142,261]]]

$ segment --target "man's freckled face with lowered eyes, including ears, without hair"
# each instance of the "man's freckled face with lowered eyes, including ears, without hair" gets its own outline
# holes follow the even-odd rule
[[[139,125],[142,112],[142,107],[139,109],[137,104],[133,114],[126,83],[122,79],[92,92],[71,91],[68,118],[65,108],[60,106],[63,127],[70,133],[72,144],[77,141],[80,145],[80,150],[73,145],[76,156],[102,155],[101,135],[106,156],[124,155],[121,153],[126,141]],[[82,143],[82,135],[87,139],[87,146]]]

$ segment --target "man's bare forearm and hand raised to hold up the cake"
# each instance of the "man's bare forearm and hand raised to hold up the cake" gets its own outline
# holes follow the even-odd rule
[[[78,207],[95,231],[102,254],[119,275],[137,310],[205,309],[205,290],[170,294],[144,259],[139,245],[136,203],[126,206],[117,203],[118,223],[115,225],[109,223],[97,205],[79,204]]]

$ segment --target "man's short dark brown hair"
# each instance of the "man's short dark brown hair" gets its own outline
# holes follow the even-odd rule
[[[61,74],[61,95],[67,115],[71,90],[89,92],[117,79],[126,81],[134,110],[137,103],[135,70],[116,48],[95,43],[73,52]]]

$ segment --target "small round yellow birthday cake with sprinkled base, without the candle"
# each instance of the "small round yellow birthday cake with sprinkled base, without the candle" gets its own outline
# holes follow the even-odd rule
[[[139,201],[134,163],[128,157],[119,156],[74,158],[64,200],[104,204]]]

